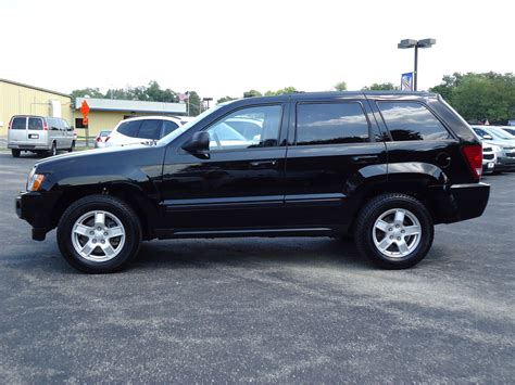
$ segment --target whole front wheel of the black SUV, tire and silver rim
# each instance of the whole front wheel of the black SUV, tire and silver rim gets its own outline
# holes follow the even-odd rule
[[[138,253],[140,243],[138,216],[114,196],[90,195],[75,202],[58,226],[61,254],[88,273],[121,270]]]

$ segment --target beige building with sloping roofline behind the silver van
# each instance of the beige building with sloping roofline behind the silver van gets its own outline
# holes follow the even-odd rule
[[[0,79],[0,137],[8,134],[13,115],[55,116],[72,120],[72,98],[65,93]]]

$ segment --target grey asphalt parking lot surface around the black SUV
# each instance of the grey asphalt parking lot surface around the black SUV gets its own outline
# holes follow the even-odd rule
[[[37,161],[0,153],[0,381],[512,383],[515,174],[438,226],[403,271],[330,239],[154,241],[86,275],[13,200]]]

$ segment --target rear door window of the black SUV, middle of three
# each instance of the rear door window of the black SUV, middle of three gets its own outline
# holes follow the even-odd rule
[[[313,103],[297,106],[297,144],[368,141],[368,121],[360,103]]]

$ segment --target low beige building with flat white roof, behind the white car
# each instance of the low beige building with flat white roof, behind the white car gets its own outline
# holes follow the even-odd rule
[[[89,105],[88,127],[83,126],[80,106]],[[72,125],[79,137],[96,137],[101,130],[112,130],[120,120],[148,115],[186,115],[186,104],[164,102],[141,102],[135,100],[77,98],[73,110]]]

